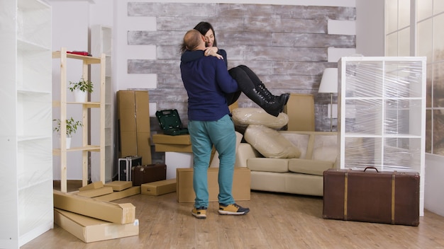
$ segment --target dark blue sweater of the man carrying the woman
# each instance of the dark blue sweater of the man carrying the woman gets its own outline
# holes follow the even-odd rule
[[[187,51],[184,54],[180,71],[188,93],[188,119],[220,120],[230,113],[225,93],[238,91],[238,83],[228,74],[223,59],[206,57],[203,50]]]

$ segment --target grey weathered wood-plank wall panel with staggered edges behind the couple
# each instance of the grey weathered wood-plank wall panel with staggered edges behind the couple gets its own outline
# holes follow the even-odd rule
[[[350,7],[274,4],[189,4],[129,2],[128,17],[155,17],[157,30],[128,30],[128,45],[155,45],[156,58],[128,59],[128,74],[157,74],[150,101],[157,109],[177,109],[187,122],[187,92],[179,69],[184,33],[200,21],[216,30],[218,47],[228,53],[228,68],[249,66],[276,95],[310,93],[315,97],[316,130],[329,130],[330,95],[317,94],[328,47],[355,47],[355,35],[328,35],[328,20],[355,21]],[[336,98],[336,97],[335,97]],[[257,107],[241,95],[240,107]],[[325,122],[325,124],[324,124]]]

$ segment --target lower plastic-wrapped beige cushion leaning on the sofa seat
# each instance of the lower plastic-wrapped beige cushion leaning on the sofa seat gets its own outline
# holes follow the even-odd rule
[[[274,129],[264,125],[248,125],[245,141],[267,158],[299,158],[301,152]]]

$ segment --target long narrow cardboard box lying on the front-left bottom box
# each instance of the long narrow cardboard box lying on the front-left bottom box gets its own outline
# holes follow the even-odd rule
[[[135,207],[131,203],[104,202],[58,190],[53,190],[52,193],[54,207],[57,209],[117,224],[129,224],[135,220]]]

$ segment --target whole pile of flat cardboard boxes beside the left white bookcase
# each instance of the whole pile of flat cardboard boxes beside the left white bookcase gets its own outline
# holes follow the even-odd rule
[[[133,204],[110,201],[137,194],[140,186],[131,182],[95,182],[70,193],[54,190],[54,222],[85,243],[136,236]]]

